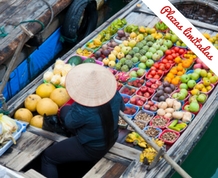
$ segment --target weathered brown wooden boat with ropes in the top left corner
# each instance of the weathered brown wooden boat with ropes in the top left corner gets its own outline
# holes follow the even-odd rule
[[[6,69],[11,65],[9,63],[15,50],[23,41],[25,32],[20,25],[28,29],[34,38],[26,39],[21,55],[14,62],[12,69],[15,69],[23,60],[27,59],[63,25],[65,15],[69,13],[68,9],[73,6],[73,2],[72,0],[9,0],[0,2],[0,79],[4,77]],[[104,1],[97,0],[96,3],[99,10]],[[61,48],[56,48],[56,54],[60,50]],[[51,61],[50,58],[49,61]]]

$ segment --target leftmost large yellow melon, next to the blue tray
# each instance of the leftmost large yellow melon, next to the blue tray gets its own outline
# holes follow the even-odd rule
[[[14,118],[29,123],[30,120],[33,118],[33,114],[27,108],[19,108],[15,111]]]

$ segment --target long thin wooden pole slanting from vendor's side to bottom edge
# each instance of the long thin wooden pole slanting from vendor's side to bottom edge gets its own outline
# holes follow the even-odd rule
[[[154,143],[150,137],[148,137],[131,119],[129,119],[122,111],[119,113],[122,117],[145,141],[151,145],[157,152],[160,151],[160,147]],[[191,178],[187,172],[185,172],[166,152],[163,153],[163,158],[184,178]]]

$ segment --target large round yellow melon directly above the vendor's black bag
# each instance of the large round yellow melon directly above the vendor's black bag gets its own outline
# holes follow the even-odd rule
[[[36,105],[36,111],[41,116],[56,115],[58,112],[58,105],[50,98],[42,98]]]

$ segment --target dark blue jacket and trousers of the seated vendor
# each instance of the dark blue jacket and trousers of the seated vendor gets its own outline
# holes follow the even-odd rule
[[[122,96],[118,91],[107,105],[110,106],[112,111],[114,124],[111,127],[113,129],[111,138],[113,138],[114,144],[118,138],[119,111],[123,111],[125,108]],[[56,143],[45,150],[42,157],[43,175],[48,178],[56,178],[58,177],[57,165],[77,161],[98,161],[108,152],[113,144],[109,147],[106,144],[101,116],[106,116],[107,113],[99,113],[100,107],[86,107],[74,102],[68,108],[69,111],[64,117],[64,124],[75,136]],[[67,109],[63,108],[64,110]],[[103,111],[105,112],[104,109]]]

